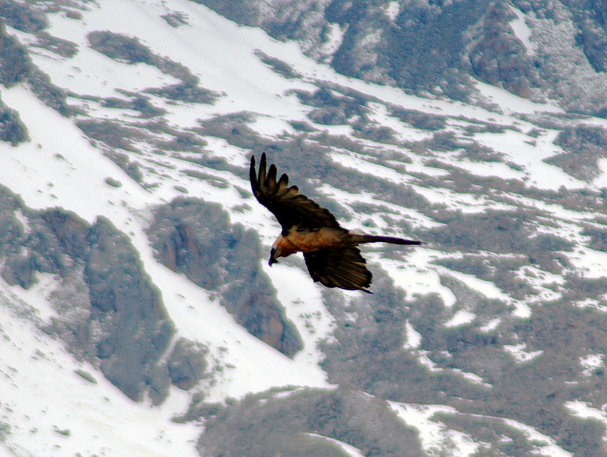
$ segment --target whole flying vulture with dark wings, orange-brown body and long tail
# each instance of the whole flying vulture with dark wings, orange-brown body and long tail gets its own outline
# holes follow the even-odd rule
[[[390,244],[423,244],[421,241],[393,236],[365,235],[350,232],[336,221],[331,212],[299,193],[296,185],[288,185],[287,173],[276,181],[276,165],[266,172],[266,155],[262,154],[259,174],[255,156],[251,156],[249,179],[253,195],[276,216],[282,232],[270,250],[272,266],[280,257],[303,252],[305,264],[314,282],[327,287],[362,290],[371,293],[371,272],[358,249],[359,244],[384,242]]]

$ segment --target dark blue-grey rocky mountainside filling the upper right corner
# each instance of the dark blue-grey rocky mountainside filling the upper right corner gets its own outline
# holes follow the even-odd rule
[[[605,2],[410,0],[398,8],[392,2],[388,13],[383,0],[194,1],[273,38],[297,41],[306,55],[353,78],[468,101],[478,95],[473,81],[480,79],[524,98],[560,99],[571,112],[605,116]],[[534,32],[529,49],[513,28],[513,8]],[[575,68],[563,55],[588,68],[572,77]]]

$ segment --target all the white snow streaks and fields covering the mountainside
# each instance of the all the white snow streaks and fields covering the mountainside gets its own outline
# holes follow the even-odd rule
[[[431,135],[427,131],[396,121],[388,115],[388,105],[452,116],[463,124],[474,119],[505,125],[507,128],[504,128],[503,133],[474,134],[475,141],[502,153],[506,158],[503,162],[481,163],[461,159],[456,155],[441,157],[441,161],[475,175],[499,176],[543,190],[558,190],[561,186],[576,189],[588,185],[566,175],[560,168],[543,162],[543,159],[562,152],[553,144],[555,130],[546,128],[537,138],[532,138],[529,132],[534,126],[517,117],[561,112],[553,104],[523,100],[480,82],[478,89],[487,100],[497,105],[497,110],[448,99],[421,98],[387,85],[368,84],[337,75],[328,65],[320,65],[305,57],[294,43],[278,42],[262,30],[236,25],[191,1],[104,0],[87,5],[88,10],[83,11],[81,21],[59,13],[50,16],[52,24],[49,32],[78,44],[75,57],[66,61],[46,52],[33,56],[34,63],[50,75],[52,82],[66,90],[89,96],[110,97],[120,96],[121,91],[137,93],[144,88],[177,82],[172,76],[150,65],[120,64],[92,50],[86,38],[87,33],[92,30],[109,30],[137,36],[158,55],[170,56],[172,60],[185,64],[200,78],[200,85],[222,93],[213,105],[169,104],[159,98],[155,99],[158,105],[168,111],[168,121],[180,128],[193,127],[198,119],[243,111],[259,115],[251,127],[261,135],[278,136],[285,131],[292,132],[293,128],[288,121],[308,122],[306,115],[309,107],[300,104],[289,91],[311,91],[316,88],[312,84],[314,81],[326,81],[351,87],[379,99],[381,103],[370,104],[373,109],[370,118],[393,128],[401,141],[421,141]],[[387,2],[385,14],[394,20],[398,8],[398,2]],[[175,11],[188,18],[187,25],[174,28],[160,17],[166,12]],[[526,45],[527,51],[532,53],[533,47],[529,41],[531,32],[522,13],[514,11],[518,19],[510,25]],[[15,30],[9,30],[9,33],[27,41],[23,33]],[[343,30],[334,28],[330,45],[336,47],[341,42],[342,34]],[[255,55],[257,49],[288,62],[304,77],[282,78],[260,62]],[[8,107],[19,112],[31,139],[18,147],[0,144],[0,184],[21,196],[25,204],[32,208],[60,206],[90,223],[98,216],[106,216],[131,238],[140,253],[144,269],[161,291],[164,305],[175,323],[177,336],[202,342],[209,347],[210,354],[215,359],[228,367],[216,378],[214,385],[200,386],[200,389],[205,390],[209,401],[222,401],[227,396],[240,398],[250,392],[262,392],[277,386],[331,387],[326,374],[318,365],[322,353],[317,349],[317,343],[321,339],[331,338],[334,322],[322,301],[320,286],[310,281],[307,272],[288,265],[274,265],[270,269],[262,261],[264,271],[276,287],[279,301],[285,306],[288,318],[294,322],[304,342],[304,350],[289,359],[246,332],[208,292],[192,284],[185,276],[161,265],[154,258],[144,233],[152,206],[180,196],[181,192],[175,186],[181,186],[187,188],[190,196],[222,203],[229,210],[232,222],[241,222],[246,227],[258,230],[263,244],[269,247],[274,236],[279,233],[279,225],[251,196],[243,196],[243,192],[239,192],[248,192],[248,151],[240,150],[221,139],[207,139],[209,155],[223,157],[233,165],[242,166],[243,173],[240,176],[229,173],[222,176],[222,173],[216,173],[215,176],[230,182],[227,188],[219,188],[185,175],[183,162],[171,156],[155,156],[154,161],[161,160],[164,166],[158,168],[160,172],[146,172],[146,184],[155,185],[144,188],[110,161],[100,148],[95,147],[72,120],[46,107],[24,85],[0,87],[0,97]],[[93,102],[90,102],[89,108],[100,118],[114,115],[108,110],[95,107]],[[123,113],[123,120],[129,121],[129,116],[132,114]],[[449,124],[449,128],[453,132],[460,132],[455,121]],[[351,128],[326,126],[326,132],[350,135]],[[443,176],[446,173],[441,168],[427,165],[426,156],[416,155],[405,147],[385,145],[385,149],[410,155],[410,161],[402,162],[402,166],[410,173],[424,176]],[[148,151],[145,148],[143,150],[144,156],[138,159],[144,165],[152,167],[150,156],[145,155]],[[379,175],[396,184],[416,186],[411,175],[402,173],[396,166],[390,168],[376,164],[371,153],[364,156],[336,150],[330,157],[344,167],[355,168],[368,175]],[[509,162],[517,167],[512,167]],[[605,162],[601,162],[601,167],[603,173],[595,179],[599,185],[607,182]],[[106,184],[106,178],[109,177],[120,181],[121,186]],[[430,201],[442,202],[446,207],[458,208],[466,213],[477,213],[503,205],[446,188],[416,186],[415,190]],[[402,220],[410,222],[413,227],[436,225],[436,222],[415,210],[399,207],[369,193],[354,195],[326,185],[320,191],[330,198],[339,198],[345,207],[356,202],[381,204]],[[243,204],[250,209],[234,210]],[[573,212],[563,210],[558,205],[545,206],[557,221],[572,218],[585,221],[590,218],[584,214],[572,214]],[[365,219],[375,222],[378,230],[387,226],[378,214],[370,217],[353,216],[351,222],[354,226],[351,228],[361,229]],[[406,236],[405,233],[396,235]],[[397,287],[407,290],[409,296],[438,293],[446,309],[450,309],[455,305],[456,298],[441,283],[441,275],[446,273],[446,269],[433,263],[440,257],[438,248],[430,245],[424,249],[407,251],[398,260],[382,258],[381,267]],[[369,258],[379,260],[379,255],[371,253]],[[576,268],[586,269],[585,276],[588,278],[607,275],[605,253],[583,249],[572,255],[571,260]],[[490,281],[452,271],[449,271],[449,275],[487,298],[514,305],[514,318],[524,319],[531,315],[532,304],[507,296]],[[41,333],[36,327],[36,324],[49,322],[56,315],[47,296],[58,282],[52,275],[38,275],[37,279],[37,284],[29,290],[0,281],[0,425],[5,422],[11,427],[11,433],[5,441],[0,440],[0,457],[73,456],[77,453],[196,455],[194,445],[200,427],[176,424],[170,420],[172,416],[185,411],[190,394],[172,389],[168,400],[160,407],[152,407],[147,401],[135,403],[106,381],[95,367],[75,361],[58,341]],[[541,289],[541,294],[544,294],[541,297],[549,294],[553,294],[550,295],[551,298],[560,296],[544,286],[552,280],[561,279],[560,276],[552,278],[545,274],[543,279],[538,279],[537,286]],[[297,284],[297,287],[292,284]],[[29,314],[24,316],[20,310],[29,310]],[[473,324],[475,318],[476,315],[471,311],[459,310],[444,325],[458,327]],[[483,331],[489,332],[499,324],[499,319],[495,319],[484,325]],[[417,351],[419,362],[429,365],[429,369],[435,369],[433,362],[419,350],[421,335],[409,321],[403,331],[407,337],[405,349]],[[504,349],[521,363],[532,362],[542,353],[527,351],[524,343]],[[580,360],[580,363],[591,369],[602,366],[604,357],[600,354],[589,355]],[[75,370],[91,373],[97,384],[86,381]],[[460,374],[472,383],[490,388],[490,385],[473,373]],[[581,417],[593,417],[607,422],[603,412],[591,410],[585,404],[571,402],[568,405]],[[429,455],[439,455],[439,450],[449,445],[454,449],[454,455],[470,456],[483,446],[483,443],[474,441],[472,437],[448,430],[443,424],[433,421],[432,415],[435,412],[440,410],[456,413],[453,409],[438,405],[397,403],[391,403],[391,407],[403,421],[419,430],[422,445]],[[551,438],[531,427],[503,420],[512,427],[524,430],[529,440],[538,441],[538,455],[570,455]],[[331,439],[320,435],[311,436]],[[361,455],[359,450],[344,443],[341,445],[349,455]]]

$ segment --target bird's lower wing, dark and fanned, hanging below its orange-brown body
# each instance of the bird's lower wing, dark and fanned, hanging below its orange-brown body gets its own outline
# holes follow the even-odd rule
[[[371,285],[367,261],[357,247],[331,248],[305,252],[305,264],[314,282],[327,287],[346,290],[364,290]]]

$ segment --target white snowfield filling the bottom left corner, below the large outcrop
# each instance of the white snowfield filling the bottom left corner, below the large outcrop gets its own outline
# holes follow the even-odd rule
[[[16,319],[27,305],[7,307],[15,298],[0,286],[0,421],[10,425],[0,455],[197,455],[198,427],[171,421],[187,406],[186,393],[174,389],[162,408],[126,398],[32,321]],[[97,384],[75,370],[94,373]]]

